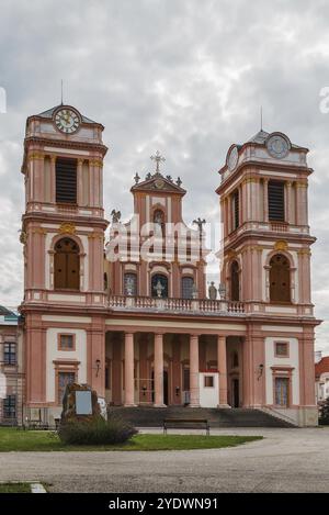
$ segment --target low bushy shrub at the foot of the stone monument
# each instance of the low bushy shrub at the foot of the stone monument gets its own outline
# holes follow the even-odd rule
[[[58,435],[66,445],[122,444],[138,432],[118,417],[105,421],[102,416],[91,421],[69,421],[60,424]]]

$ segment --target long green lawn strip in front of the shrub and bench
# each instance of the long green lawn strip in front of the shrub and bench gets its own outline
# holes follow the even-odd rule
[[[65,446],[56,433],[0,427],[0,452],[54,450],[188,450],[235,447],[261,436],[136,435],[125,444]]]

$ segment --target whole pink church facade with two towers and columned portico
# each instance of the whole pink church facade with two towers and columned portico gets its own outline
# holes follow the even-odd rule
[[[218,298],[204,221],[184,223],[185,190],[159,154],[135,176],[134,216],[113,210],[105,238],[103,130],[68,105],[26,121],[26,416],[52,423],[77,381],[110,405],[254,407],[316,425],[307,148],[260,131],[228,149]]]

